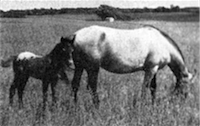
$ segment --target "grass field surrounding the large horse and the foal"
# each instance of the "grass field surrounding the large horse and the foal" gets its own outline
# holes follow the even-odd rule
[[[45,118],[41,118],[41,81],[30,78],[24,92],[24,108],[18,110],[18,98],[14,107],[9,107],[9,88],[13,79],[12,68],[0,67],[0,125],[1,126],[198,126],[200,125],[199,101],[199,22],[167,21],[85,21],[87,16],[62,15],[29,17],[24,19],[0,19],[0,59],[31,51],[45,55],[50,52],[61,36],[90,26],[102,25],[114,28],[133,29],[142,24],[151,24],[165,31],[180,46],[189,70],[197,69],[197,78],[190,84],[190,96],[186,100],[170,95],[175,78],[169,68],[158,74],[157,99],[150,104],[148,96],[144,108],[139,109],[137,94],[141,90],[143,72],[113,74],[101,69],[98,79],[100,108],[96,110],[91,95],[86,89],[84,73],[78,92],[78,103],[74,104],[70,84],[59,81],[56,86],[58,102],[48,107]],[[95,18],[95,17],[94,17]],[[81,20],[83,19],[83,20]],[[73,72],[67,72],[69,79]],[[51,94],[51,91],[48,91]]]

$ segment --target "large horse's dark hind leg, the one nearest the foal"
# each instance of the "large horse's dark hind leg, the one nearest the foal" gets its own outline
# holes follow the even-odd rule
[[[76,66],[74,77],[72,80],[72,90],[74,92],[74,102],[77,102],[77,92],[80,86],[81,75],[83,73],[83,68]]]

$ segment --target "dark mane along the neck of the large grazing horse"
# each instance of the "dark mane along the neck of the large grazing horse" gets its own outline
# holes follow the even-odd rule
[[[153,25],[144,25],[144,27],[152,27],[152,28],[158,30],[158,31],[159,31],[163,36],[165,36],[165,37],[169,40],[169,42],[177,49],[177,51],[181,54],[181,57],[183,58],[183,61],[185,61],[184,56],[183,56],[183,53],[182,53],[181,49],[179,48],[178,44],[177,44],[167,33],[163,32],[162,30],[156,28],[156,27],[153,26]]]

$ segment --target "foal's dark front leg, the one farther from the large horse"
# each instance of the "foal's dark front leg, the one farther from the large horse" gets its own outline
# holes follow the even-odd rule
[[[48,87],[49,87],[49,82],[46,81],[46,80],[43,80],[42,82],[43,82],[43,84],[42,84],[43,110],[45,110],[45,108],[46,108],[46,101],[47,101],[47,90],[48,90]]]

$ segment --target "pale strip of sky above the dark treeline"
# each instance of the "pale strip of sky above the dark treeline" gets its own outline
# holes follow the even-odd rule
[[[199,0],[0,0],[0,10],[98,7],[101,4],[120,8],[199,7]]]

